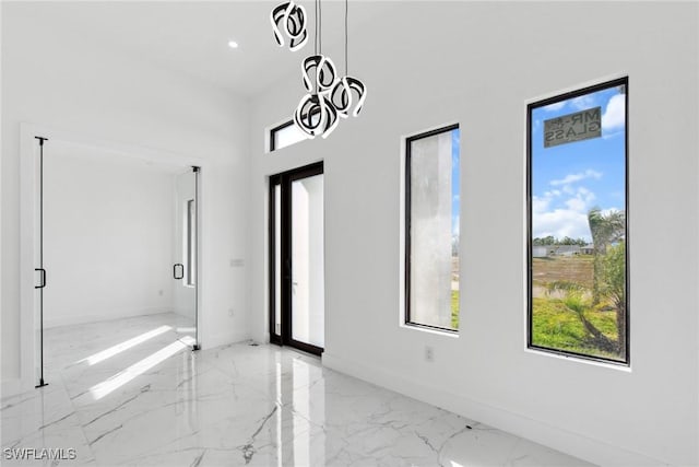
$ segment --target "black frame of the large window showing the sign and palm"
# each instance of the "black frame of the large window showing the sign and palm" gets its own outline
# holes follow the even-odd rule
[[[625,199],[624,199],[624,209],[625,209],[625,268],[626,268],[626,339],[625,339],[625,360],[614,360],[607,359],[604,357],[590,355],[585,353],[572,352],[568,350],[560,349],[552,349],[547,347],[542,347],[533,343],[533,210],[532,210],[532,112],[536,108],[545,107],[547,105],[556,104],[562,101],[568,101],[574,97],[580,97],[583,95],[588,95],[594,92],[604,91],[609,87],[615,86],[625,86],[625,130],[624,130],[624,184],[625,184]],[[569,359],[580,359],[585,361],[593,361],[605,364],[613,364],[617,366],[629,366],[631,365],[631,336],[630,336],[630,296],[631,296],[631,288],[630,288],[630,261],[629,261],[629,252],[630,252],[630,242],[629,242],[629,77],[625,75],[621,78],[617,78],[614,80],[604,81],[597,84],[588,85],[578,90],[556,94],[552,97],[547,97],[544,100],[538,100],[535,102],[531,102],[526,105],[526,349],[549,353],[559,357],[565,357]]]

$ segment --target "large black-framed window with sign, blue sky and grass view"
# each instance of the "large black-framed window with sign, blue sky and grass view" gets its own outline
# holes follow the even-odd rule
[[[528,107],[529,347],[629,362],[628,79]]]

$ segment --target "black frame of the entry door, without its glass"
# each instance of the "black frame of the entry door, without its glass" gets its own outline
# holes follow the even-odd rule
[[[292,212],[294,209],[292,201],[292,183],[312,177],[315,175],[321,175],[323,173],[323,162],[317,162],[315,164],[306,165],[299,168],[295,168],[289,172],[284,172],[282,174],[272,175],[270,177],[270,242],[269,242],[269,257],[270,257],[270,341],[272,343],[277,343],[281,346],[291,346],[295,347],[299,350],[304,350],[309,353],[315,353],[320,355],[323,352],[323,349],[308,342],[301,342],[298,340],[294,340],[292,335],[292,304],[293,304],[293,254],[292,254],[292,232],[293,232],[293,223],[292,223]],[[276,213],[276,201],[274,196],[274,188],[280,186],[281,188],[281,296],[280,296],[280,305],[282,310],[282,326],[281,326],[281,335],[276,334],[276,319],[275,319],[275,268],[276,268],[276,254],[275,254],[275,213]]]

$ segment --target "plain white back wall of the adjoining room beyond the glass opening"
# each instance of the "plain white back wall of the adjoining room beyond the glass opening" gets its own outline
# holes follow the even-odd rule
[[[57,144],[44,152],[46,327],[173,311],[174,176]]]

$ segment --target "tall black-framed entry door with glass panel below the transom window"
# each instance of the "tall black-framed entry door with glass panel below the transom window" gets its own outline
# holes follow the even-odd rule
[[[270,177],[270,341],[320,355],[325,339],[323,163]]]

